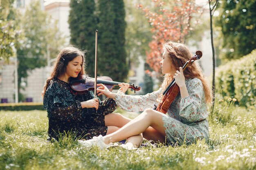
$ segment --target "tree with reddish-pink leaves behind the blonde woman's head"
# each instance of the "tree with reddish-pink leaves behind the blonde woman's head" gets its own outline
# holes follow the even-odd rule
[[[150,11],[138,5],[145,12],[148,22],[154,33],[152,41],[148,44],[150,51],[146,53],[146,62],[154,71],[160,73],[162,60],[162,45],[168,41],[185,43],[186,38],[193,30],[191,20],[194,15],[202,14],[202,7],[195,4],[195,0],[160,1],[153,0],[156,11]],[[197,22],[195,22],[197,23]]]

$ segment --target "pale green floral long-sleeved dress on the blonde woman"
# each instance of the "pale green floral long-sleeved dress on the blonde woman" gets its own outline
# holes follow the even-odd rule
[[[208,139],[208,111],[205,101],[203,85],[200,79],[186,79],[185,84],[189,96],[181,98],[180,93],[162,116],[166,141],[168,144],[186,144],[195,142],[196,139]],[[162,88],[146,95],[124,95],[117,93],[116,103],[129,112],[143,111],[146,108],[155,108],[158,105],[157,97],[162,93]]]

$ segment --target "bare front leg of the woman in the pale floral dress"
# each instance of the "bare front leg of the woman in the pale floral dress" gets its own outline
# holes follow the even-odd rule
[[[121,141],[131,136],[139,135],[144,132],[149,126],[153,127],[155,130],[165,136],[164,126],[162,121],[162,114],[153,109],[147,109],[141,115],[130,121],[128,124],[113,132],[106,135],[104,141],[106,144],[110,142]]]

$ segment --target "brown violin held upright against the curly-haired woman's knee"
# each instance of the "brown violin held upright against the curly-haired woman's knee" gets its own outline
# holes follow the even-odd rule
[[[202,51],[196,51],[195,55],[187,61],[184,66],[182,66],[182,70],[184,71],[188,64],[192,64],[195,60],[199,60],[202,57]],[[166,87],[163,92],[164,97],[162,98],[162,103],[159,103],[158,106],[155,106],[155,110],[166,114],[168,108],[172,104],[173,100],[177,97],[180,92],[179,86],[175,83],[175,79]]]

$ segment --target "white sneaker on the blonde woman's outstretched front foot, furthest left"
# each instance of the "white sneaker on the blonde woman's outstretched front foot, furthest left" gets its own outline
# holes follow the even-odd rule
[[[100,149],[105,149],[108,146],[112,145],[112,143],[110,144],[105,144],[103,136],[99,135],[98,137],[94,136],[92,137],[92,139],[89,140],[78,140],[78,143],[81,144],[82,146],[84,146],[85,148],[89,148],[92,146],[98,146]]]

